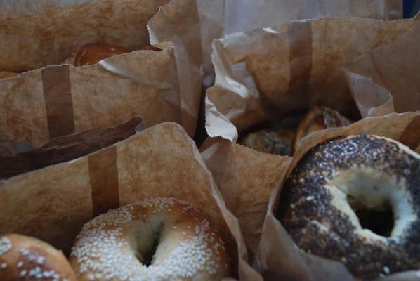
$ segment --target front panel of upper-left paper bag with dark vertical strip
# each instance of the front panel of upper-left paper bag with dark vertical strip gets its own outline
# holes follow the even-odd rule
[[[162,51],[134,51],[86,67],[53,65],[0,80],[0,138],[41,146],[136,115],[146,126],[181,122],[179,105],[170,44]]]

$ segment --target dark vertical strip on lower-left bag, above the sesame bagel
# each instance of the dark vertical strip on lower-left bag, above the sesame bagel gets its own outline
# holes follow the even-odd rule
[[[93,214],[119,207],[117,148],[110,146],[88,156]]]

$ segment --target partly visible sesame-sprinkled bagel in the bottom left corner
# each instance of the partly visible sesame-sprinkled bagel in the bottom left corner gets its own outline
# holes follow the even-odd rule
[[[76,281],[61,251],[18,234],[0,236],[0,280]]]

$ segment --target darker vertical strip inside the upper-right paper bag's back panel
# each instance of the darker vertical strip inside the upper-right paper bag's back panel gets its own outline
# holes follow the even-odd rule
[[[289,41],[290,81],[289,90],[293,91],[305,84],[312,69],[312,30],[309,20],[291,22],[287,30]]]

